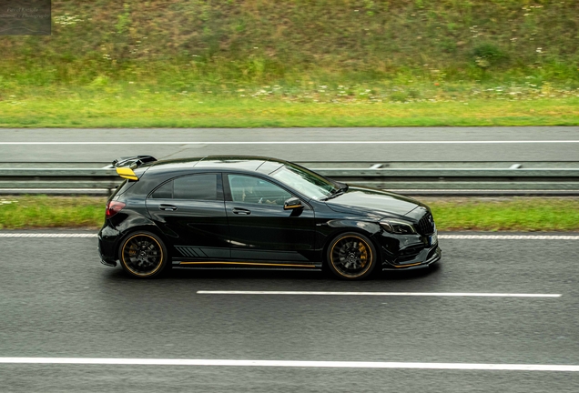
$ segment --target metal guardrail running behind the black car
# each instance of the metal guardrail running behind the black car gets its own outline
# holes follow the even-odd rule
[[[304,162],[321,175],[408,195],[579,196],[579,162]],[[108,195],[106,163],[0,163],[0,194]]]

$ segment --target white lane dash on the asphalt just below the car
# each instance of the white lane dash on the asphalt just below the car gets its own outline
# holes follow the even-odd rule
[[[510,294],[474,292],[321,292],[321,291],[197,291],[199,295],[316,295],[316,296],[418,296],[418,297],[561,297],[561,294]]]

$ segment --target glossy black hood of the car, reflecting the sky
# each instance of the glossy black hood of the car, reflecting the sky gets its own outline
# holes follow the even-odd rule
[[[342,213],[358,210],[381,216],[404,216],[424,205],[407,196],[374,188],[350,186],[348,191],[326,201],[330,209]]]

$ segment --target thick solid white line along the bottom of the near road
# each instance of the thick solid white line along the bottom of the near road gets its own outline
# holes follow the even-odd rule
[[[0,358],[2,364],[74,364],[130,366],[229,366],[279,368],[422,368],[490,371],[566,371],[577,372],[576,365],[489,364],[489,363],[419,363],[381,361],[310,361],[310,360],[230,360],[164,358]]]

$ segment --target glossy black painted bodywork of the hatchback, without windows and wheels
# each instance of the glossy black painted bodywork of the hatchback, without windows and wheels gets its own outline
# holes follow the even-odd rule
[[[268,176],[268,172],[284,163],[264,157],[199,157],[160,161],[137,168],[139,180],[128,180],[111,196],[127,206],[107,219],[98,234],[103,263],[115,266],[122,240],[136,230],[161,237],[173,265],[181,264],[181,267],[183,263],[199,267],[203,266],[199,265],[201,262],[210,262],[211,267],[216,267],[219,262],[238,261],[258,262],[262,267],[287,267],[290,263],[295,267],[320,268],[330,240],[352,230],[371,238],[379,250],[384,270],[426,267],[440,259],[440,248],[429,244],[429,236],[395,235],[379,225],[384,217],[403,218],[416,224],[424,214],[430,213],[422,203],[358,186],[350,186],[343,195],[327,201],[310,199]],[[166,180],[197,173],[222,174],[222,203],[178,201],[178,210],[168,212],[158,209],[161,200],[147,198]],[[253,204],[248,207],[234,203],[227,174],[266,179],[299,197],[304,207],[283,210],[279,206]],[[176,204],[175,200],[165,202]],[[199,211],[201,206],[207,210]],[[251,214],[234,215],[234,208],[249,208]],[[407,256],[401,257],[405,252]]]

